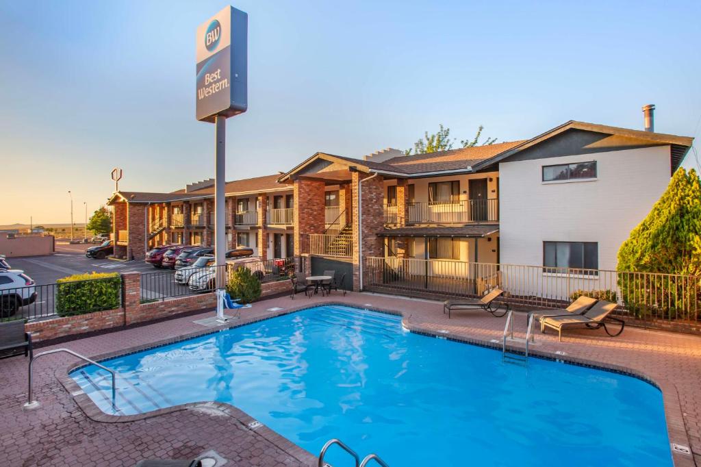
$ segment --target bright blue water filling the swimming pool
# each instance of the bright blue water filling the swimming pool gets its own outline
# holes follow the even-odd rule
[[[343,306],[217,332],[71,376],[109,414],[217,400],[313,454],[341,438],[400,466],[671,466],[660,391],[622,374],[402,329]],[[351,465],[329,451],[335,467]]]

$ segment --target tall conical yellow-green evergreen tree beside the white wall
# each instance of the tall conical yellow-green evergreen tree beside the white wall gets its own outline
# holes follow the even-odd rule
[[[676,170],[667,191],[618,250],[618,271],[621,298],[637,316],[686,316],[698,299],[701,273],[701,183],[695,170]]]

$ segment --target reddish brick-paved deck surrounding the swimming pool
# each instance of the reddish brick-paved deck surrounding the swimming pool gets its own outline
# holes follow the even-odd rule
[[[482,311],[456,311],[449,320],[438,302],[367,293],[268,299],[244,309],[243,318],[220,327],[330,302],[401,312],[404,325],[411,330],[501,348],[505,318]],[[273,307],[283,311],[266,311]],[[35,353],[70,348],[88,357],[117,355],[212,332],[217,327],[195,323],[212,314],[207,311],[76,339],[35,349]],[[515,331],[522,337],[525,330],[525,314],[517,313]],[[559,342],[557,334],[540,334],[538,329],[531,351],[653,381],[664,395],[670,441],[690,446],[693,452],[674,454],[674,464],[701,467],[701,337],[629,327],[619,337],[608,337],[603,330],[567,332]],[[249,428],[252,419],[225,404],[203,402],[133,417],[102,414],[86,395],[71,393],[76,386],[67,372],[80,364],[67,353],[36,360],[34,391],[41,405],[22,410],[27,400],[27,358],[0,360],[0,453],[7,465],[133,466],[139,459],[186,459],[210,449],[227,459],[227,465],[237,467],[316,465],[313,455],[264,426]],[[377,453],[382,455],[381,447]]]

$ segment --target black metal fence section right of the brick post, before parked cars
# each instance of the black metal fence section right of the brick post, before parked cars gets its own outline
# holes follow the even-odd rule
[[[301,257],[281,259],[238,260],[225,266],[188,266],[176,271],[157,271],[141,275],[141,302],[149,303],[173,297],[184,297],[212,292],[217,287],[217,275],[228,283],[234,271],[248,269],[260,283],[287,280],[292,274],[302,273],[304,261]]]

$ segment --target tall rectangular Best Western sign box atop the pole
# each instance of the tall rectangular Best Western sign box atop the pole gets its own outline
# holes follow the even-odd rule
[[[248,15],[227,6],[197,28],[196,117],[234,116],[247,102]]]

